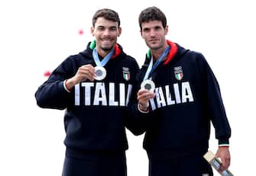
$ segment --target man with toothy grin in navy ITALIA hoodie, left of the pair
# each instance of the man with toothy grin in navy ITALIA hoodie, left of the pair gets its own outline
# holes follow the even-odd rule
[[[65,59],[35,94],[39,107],[66,109],[63,176],[127,174],[125,126],[138,63],[117,43],[121,32],[115,11],[96,11],[95,40]]]

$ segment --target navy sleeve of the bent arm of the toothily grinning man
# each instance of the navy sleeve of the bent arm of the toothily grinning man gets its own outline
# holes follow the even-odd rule
[[[39,107],[63,110],[72,104],[73,92],[66,91],[63,85],[65,79],[72,77],[73,66],[71,63],[70,59],[63,61],[47,81],[37,89],[35,98]]]

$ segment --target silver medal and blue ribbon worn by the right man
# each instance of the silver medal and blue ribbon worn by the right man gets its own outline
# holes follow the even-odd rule
[[[162,53],[160,57],[157,59],[157,62],[154,63],[154,66],[153,66],[153,55],[151,55],[151,62],[147,67],[147,72],[144,75],[143,82],[141,83],[141,88],[154,92],[154,88],[155,88],[154,82],[151,80],[151,78],[148,79],[148,77],[149,75],[151,75],[154,69],[156,69],[157,66],[159,66],[160,62],[163,61],[164,57],[167,56],[167,54],[169,53],[169,50],[170,50],[170,46],[167,46],[167,48],[164,50],[164,53]]]

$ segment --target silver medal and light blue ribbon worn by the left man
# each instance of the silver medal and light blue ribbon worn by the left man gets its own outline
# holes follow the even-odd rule
[[[98,52],[96,50],[96,48],[93,49],[92,51],[92,56],[93,56],[93,59],[94,61],[96,62],[96,67],[94,68],[95,69],[95,79],[100,81],[102,79],[105,78],[105,76],[107,75],[107,72],[104,68],[105,64],[107,62],[109,62],[109,59],[112,57],[114,53],[114,49],[112,49],[103,59],[102,61],[99,60],[99,55],[98,55]]]

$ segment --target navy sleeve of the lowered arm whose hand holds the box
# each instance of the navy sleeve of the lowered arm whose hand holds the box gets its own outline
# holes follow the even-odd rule
[[[231,137],[231,128],[226,117],[225,107],[222,101],[222,95],[219,88],[219,83],[215,78],[212,69],[208,62],[200,55],[203,60],[203,70],[205,75],[205,81],[207,82],[207,103],[209,110],[209,117],[212,120],[212,125],[215,128],[215,138],[219,140],[219,145],[229,144],[229,138]]]

